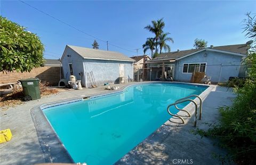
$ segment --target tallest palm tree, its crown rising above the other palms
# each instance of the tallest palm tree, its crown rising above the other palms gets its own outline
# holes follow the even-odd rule
[[[155,34],[155,54],[157,54],[157,46],[159,45],[158,44],[158,41],[159,41],[159,37],[160,35],[163,33],[163,28],[164,28],[164,21],[163,21],[163,18],[162,19],[159,19],[157,21],[151,21],[151,25],[147,25],[145,27],[145,29],[149,30],[150,32],[154,33]]]

